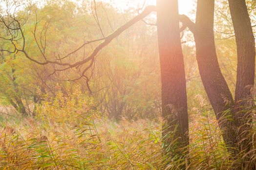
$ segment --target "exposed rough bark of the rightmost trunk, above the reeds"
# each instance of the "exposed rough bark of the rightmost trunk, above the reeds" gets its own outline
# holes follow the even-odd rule
[[[245,0],[229,0],[229,5],[237,46],[235,102],[241,102],[253,97],[255,38]]]

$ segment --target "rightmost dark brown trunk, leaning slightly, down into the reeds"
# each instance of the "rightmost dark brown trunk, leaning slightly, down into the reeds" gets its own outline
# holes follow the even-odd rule
[[[254,150],[252,108],[254,106],[253,87],[255,80],[255,38],[245,0],[229,0],[230,12],[235,30],[237,46],[237,75],[235,87],[235,123],[238,150],[243,157],[243,168],[253,169]]]

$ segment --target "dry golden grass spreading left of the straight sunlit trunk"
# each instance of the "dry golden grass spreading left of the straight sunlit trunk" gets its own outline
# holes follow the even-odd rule
[[[24,119],[0,130],[0,169],[123,170],[160,167],[159,125],[101,119],[80,126]]]

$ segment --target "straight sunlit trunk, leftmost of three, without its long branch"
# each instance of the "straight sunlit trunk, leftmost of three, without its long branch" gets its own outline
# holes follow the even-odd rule
[[[181,157],[181,149],[189,144],[189,124],[178,0],[157,0],[157,30],[165,119],[163,142],[166,154]],[[171,139],[176,141],[172,143]]]

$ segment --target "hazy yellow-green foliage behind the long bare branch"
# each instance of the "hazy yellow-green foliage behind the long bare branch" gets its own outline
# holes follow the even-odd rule
[[[49,1],[43,7],[28,4],[27,11],[21,10],[18,15],[21,18],[26,18],[26,21],[22,22],[22,28],[26,37],[26,48],[29,49],[28,53],[33,58],[42,61],[43,55],[51,60],[57,60],[58,56],[66,55],[85,41],[102,38],[95,16],[93,16],[95,14],[90,11],[90,4],[85,2],[83,5],[82,7],[73,2],[61,0]],[[136,13],[121,14],[109,4],[99,3],[97,4],[97,15],[106,36]],[[125,19],[123,19],[124,17]],[[86,73],[86,76],[90,78],[89,88],[93,92],[93,97],[99,104],[100,110],[108,114],[110,118],[152,119],[158,117],[160,76],[154,30],[143,22],[128,29],[101,51],[97,56],[95,66]],[[35,37],[38,38],[37,41]],[[45,45],[44,41],[46,41]],[[45,46],[41,47],[42,51],[38,48],[37,43],[40,44],[40,47]],[[3,41],[1,44],[7,43]],[[64,59],[63,62],[78,61],[88,55],[96,45],[97,42],[92,43],[91,46],[85,46]],[[85,65],[78,69],[58,71],[51,75],[54,69],[58,68],[52,65],[37,65],[26,59],[21,52],[16,54],[16,59],[5,52],[2,57],[1,68],[4,72],[0,74],[1,80],[5,81],[6,76],[8,76],[7,79],[10,79],[9,74],[5,72],[17,68],[15,75],[19,77],[19,81],[17,80],[16,83],[22,89],[17,93],[13,90],[13,83],[8,82],[0,87],[0,93],[4,99],[8,97],[13,100],[14,94],[19,96],[29,114],[33,112],[33,105],[39,101],[38,98],[41,98],[37,94],[38,88],[42,94],[54,96],[58,91],[55,88],[56,84],[65,91],[67,82],[78,78],[79,70],[87,67]],[[12,65],[8,63],[12,63]],[[8,68],[6,68],[7,66]],[[13,73],[10,72],[10,74]],[[12,79],[8,81],[12,81]],[[85,79],[72,83],[72,85],[77,84],[83,88],[84,92],[89,90]],[[33,100],[34,97],[37,100]],[[133,100],[135,98],[136,101]],[[8,101],[7,103],[11,104]]]

